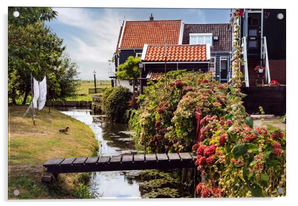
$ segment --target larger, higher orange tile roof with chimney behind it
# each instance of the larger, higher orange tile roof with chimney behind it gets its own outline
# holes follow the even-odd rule
[[[120,49],[142,49],[144,44],[179,44],[182,20],[126,21]],[[121,33],[121,32],[120,32]]]

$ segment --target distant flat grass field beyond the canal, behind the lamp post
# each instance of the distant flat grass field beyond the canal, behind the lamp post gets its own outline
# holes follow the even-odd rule
[[[80,80],[81,81],[81,87],[79,89],[79,95],[80,94],[86,94],[87,96],[78,96],[76,99],[69,99],[71,101],[92,101],[92,95],[89,95],[89,88],[94,88],[94,80]],[[110,87],[111,81],[109,80],[100,80],[97,81],[97,87]]]

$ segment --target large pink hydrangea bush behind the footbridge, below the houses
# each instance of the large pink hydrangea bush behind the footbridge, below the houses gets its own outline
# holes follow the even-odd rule
[[[221,116],[236,105],[227,84],[213,81],[212,73],[172,71],[144,90],[139,97],[139,125],[130,122],[133,129],[141,128],[139,143],[148,153],[191,151],[194,111],[200,108],[203,115]]]

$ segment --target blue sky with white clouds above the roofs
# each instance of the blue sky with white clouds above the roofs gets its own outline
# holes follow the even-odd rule
[[[230,9],[195,8],[65,8],[58,7],[56,19],[47,22],[52,32],[63,39],[66,52],[79,66],[79,79],[107,80],[114,71],[112,58],[123,20],[183,19],[188,24],[229,23]]]

